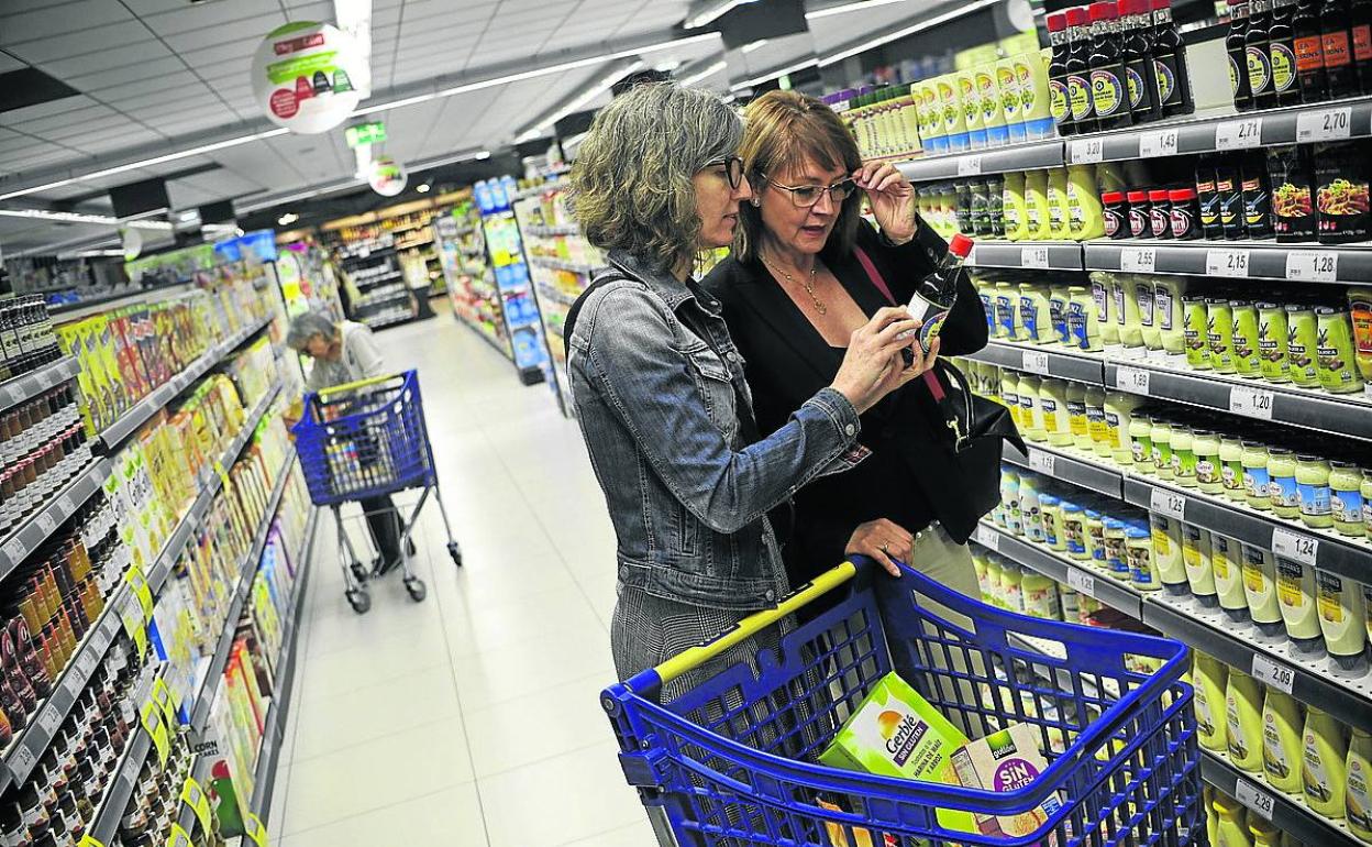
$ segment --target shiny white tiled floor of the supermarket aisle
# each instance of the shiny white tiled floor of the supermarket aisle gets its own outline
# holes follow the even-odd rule
[[[576,424],[446,310],[377,338],[420,369],[465,566],[425,507],[428,600],[388,578],[358,616],[321,530],[273,844],[653,844],[597,704],[615,548]]]

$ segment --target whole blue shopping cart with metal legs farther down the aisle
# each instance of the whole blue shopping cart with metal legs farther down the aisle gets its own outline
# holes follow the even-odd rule
[[[333,386],[305,395],[305,413],[291,431],[305,469],[305,482],[314,505],[331,507],[338,524],[339,559],[347,582],[348,604],[358,614],[372,608],[366,583],[390,564],[377,561],[373,570],[362,567],[353,542],[343,527],[342,505],[407,489],[423,489],[409,520],[401,520],[401,563],[405,590],[418,603],[424,600],[424,581],[414,575],[410,556],[414,545],[410,533],[429,491],[443,516],[447,552],[453,563],[462,564],[462,550],[453,539],[447,509],[438,490],[434,452],[424,424],[424,404],[414,371],[394,376],[376,376]],[[364,508],[365,511],[365,508]]]

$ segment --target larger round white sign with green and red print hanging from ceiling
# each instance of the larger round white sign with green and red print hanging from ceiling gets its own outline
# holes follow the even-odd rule
[[[342,124],[362,93],[353,85],[355,43],[329,23],[287,23],[252,58],[252,93],[273,124],[314,135]]]

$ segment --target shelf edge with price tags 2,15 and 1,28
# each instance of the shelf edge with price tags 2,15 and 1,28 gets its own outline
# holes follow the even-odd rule
[[[1276,244],[1273,242],[1091,242],[1087,270],[1144,270],[1184,276],[1369,283],[1372,244]],[[1150,270],[1151,269],[1151,270]]]

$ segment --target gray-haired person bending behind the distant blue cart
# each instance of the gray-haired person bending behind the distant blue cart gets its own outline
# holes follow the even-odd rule
[[[314,360],[305,380],[307,393],[387,373],[372,329],[355,321],[333,323],[327,314],[306,312],[291,321],[285,343]],[[395,504],[386,494],[359,502],[380,555],[372,570],[388,571],[401,560],[401,518]]]

